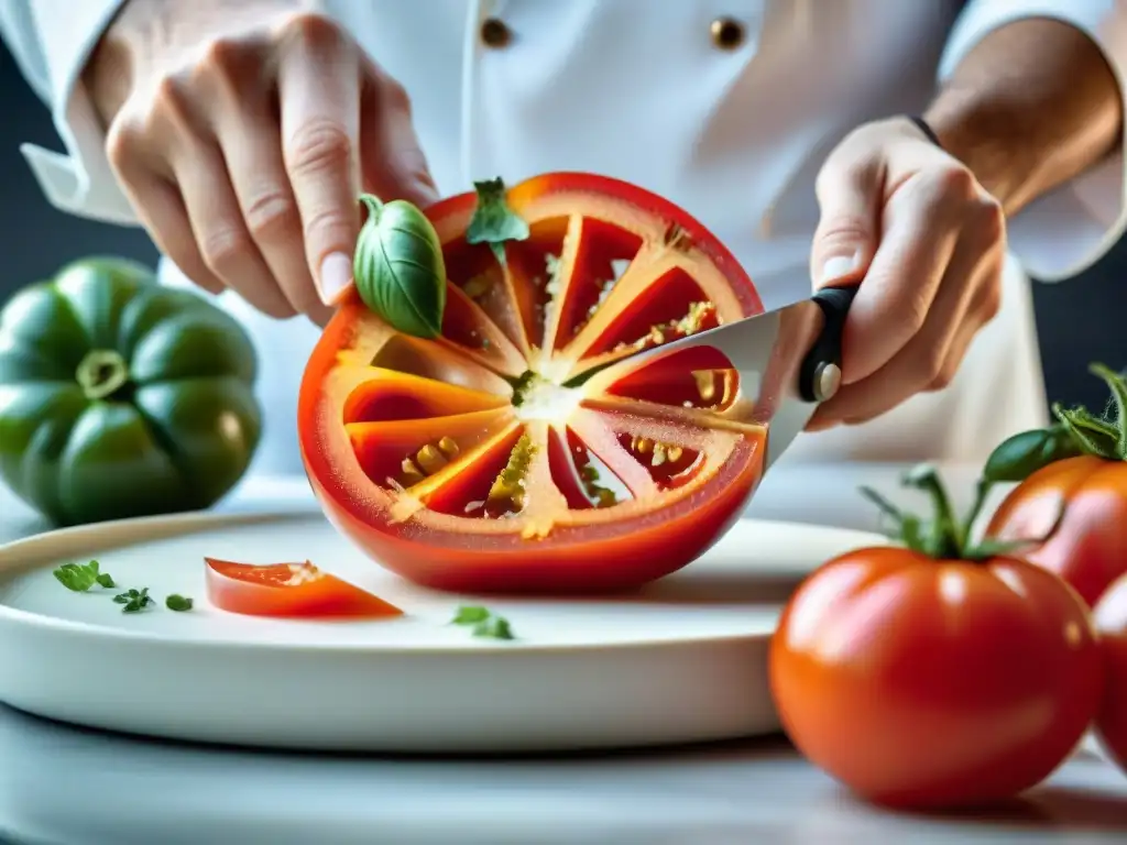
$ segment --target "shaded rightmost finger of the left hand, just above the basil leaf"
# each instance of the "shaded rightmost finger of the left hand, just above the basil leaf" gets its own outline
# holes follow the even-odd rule
[[[361,170],[364,190],[425,208],[438,198],[411,122],[407,91],[371,62],[361,104]]]

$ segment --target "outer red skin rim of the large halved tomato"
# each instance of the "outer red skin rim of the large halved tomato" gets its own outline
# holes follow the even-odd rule
[[[721,273],[745,314],[762,312],[755,286],[735,257],[699,222],[667,201],[627,183],[589,174],[549,174],[508,190],[522,207],[553,195],[606,196],[676,223]],[[426,210],[440,231],[468,221],[473,193]],[[447,267],[447,269],[450,269]],[[396,523],[365,493],[371,482],[350,455],[334,445],[326,422],[325,383],[371,314],[353,294],[326,327],[310,357],[299,398],[299,436],[307,474],[329,521],[384,568],[425,587],[449,592],[586,594],[624,590],[684,567],[739,518],[758,484],[764,444],[743,444],[691,497],[676,505],[597,526],[559,525],[544,540],[471,535]],[[339,415],[338,415],[339,418]]]

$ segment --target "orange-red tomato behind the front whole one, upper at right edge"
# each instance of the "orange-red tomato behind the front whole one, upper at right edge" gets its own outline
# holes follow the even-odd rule
[[[1021,557],[1064,578],[1094,606],[1127,572],[1127,463],[1083,455],[1050,463],[1018,484],[991,518],[1001,540],[1049,539]]]

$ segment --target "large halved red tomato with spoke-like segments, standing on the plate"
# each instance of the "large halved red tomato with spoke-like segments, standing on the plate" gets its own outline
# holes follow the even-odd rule
[[[302,456],[329,518],[378,562],[470,592],[623,589],[708,549],[758,483],[766,432],[711,348],[621,361],[763,310],[706,229],[597,176],[507,193],[529,224],[499,261],[476,196],[427,210],[449,276],[442,337],[358,296],[301,389]]]

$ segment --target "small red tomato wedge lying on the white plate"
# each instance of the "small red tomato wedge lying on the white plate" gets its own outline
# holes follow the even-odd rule
[[[249,616],[401,616],[402,611],[309,561],[255,566],[204,558],[207,601]]]

